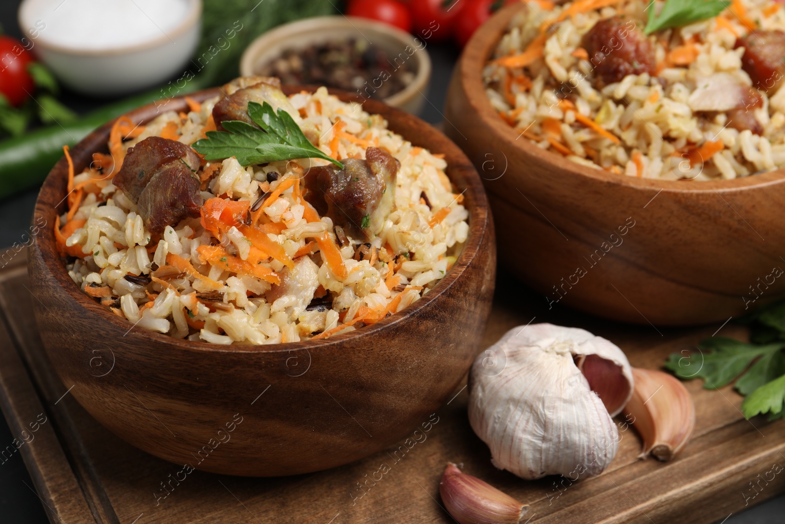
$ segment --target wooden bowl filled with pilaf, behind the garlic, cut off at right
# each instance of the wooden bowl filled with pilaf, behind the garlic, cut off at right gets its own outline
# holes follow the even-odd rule
[[[748,31],[741,25],[740,20],[744,19],[736,20],[729,11],[689,28],[667,29],[670,41],[666,46],[673,46],[665,55],[667,60],[684,60],[679,56],[673,58],[672,53],[676,50],[681,53],[685,46],[694,50],[696,57],[683,67],[668,62],[664,72],[658,73],[663,67],[658,63],[663,60],[660,57],[663,42],[658,39],[661,33],[655,31],[647,36],[643,32],[647,24],[643,11],[646,2],[604,2],[604,10],[596,13],[573,10],[564,16],[560,15],[564,13],[560,9],[570,9],[571,2],[535,3],[508,6],[476,32],[455,68],[444,110],[445,132],[480,171],[495,223],[507,232],[498,246],[502,265],[544,295],[546,310],[571,306],[635,324],[726,321],[785,295],[785,280],[778,278],[783,273],[781,268],[785,268],[782,258],[785,228],[780,221],[780,210],[785,206],[785,172],[780,156],[783,146],[780,138],[775,139],[783,136],[780,111],[785,110],[773,109],[780,108],[785,90],[767,93],[771,86],[761,84],[755,76],[758,57],[749,57],[748,48],[739,49],[744,38],[760,35],[763,38],[763,33],[773,34],[778,42],[785,39],[779,29],[772,29],[779,27],[775,24],[785,24],[782,6],[775,2],[765,6],[769,17],[765,18],[761,33]],[[608,6],[612,3],[615,6]],[[542,5],[552,10],[542,10]],[[662,2],[656,2],[652,13],[661,5]],[[758,13],[748,9],[747,18]],[[539,13],[546,21],[531,13]],[[540,21],[526,26],[526,16],[535,16]],[[619,29],[623,34],[616,34],[615,42],[621,43],[612,46],[622,48],[618,51],[621,54],[614,55],[617,51],[612,49],[604,49],[608,54],[597,50],[597,39],[602,37],[597,34],[597,27],[601,23],[606,33],[608,26],[626,25]],[[510,27],[518,27],[516,35],[509,32]],[[552,46],[561,45],[559,36],[554,36],[552,31],[562,31],[560,35],[565,35],[563,57],[571,58],[560,64],[566,73],[573,74],[571,67],[583,67],[585,71],[573,84],[543,82],[552,74],[545,60],[553,52]],[[687,31],[690,36],[684,39]],[[736,31],[738,36],[723,31]],[[541,35],[539,40],[538,35]],[[624,40],[625,37],[628,39]],[[633,42],[634,46],[626,47],[631,45],[629,38],[633,37],[639,40]],[[527,43],[528,39],[531,43]],[[734,109],[733,117],[728,116],[730,110],[727,114],[698,111],[708,107],[703,105],[707,101],[716,102],[711,98],[714,93],[720,92],[717,100],[722,100],[727,94],[723,92],[728,91],[725,84],[712,83],[728,79],[727,72],[710,76],[710,82],[705,84],[690,83],[694,70],[705,65],[701,61],[704,60],[702,49],[714,45],[710,42],[719,47],[725,42],[723,45],[728,48],[725,65],[737,79],[731,87],[743,89],[744,96],[751,93],[749,111]],[[641,58],[620,64],[627,55],[640,53],[641,46],[644,50],[649,46],[652,49],[651,56],[655,58],[652,73],[627,69],[623,72],[630,75],[625,79],[619,82],[618,78],[612,78],[614,68],[645,67]],[[587,47],[590,52],[586,51]],[[517,50],[510,50],[513,48]],[[570,52],[570,49],[574,50]],[[781,60],[783,53],[779,53],[777,60]],[[571,60],[577,65],[570,66]],[[750,76],[747,71],[753,74]],[[507,86],[505,74],[510,75]],[[666,111],[659,113],[662,116],[649,119],[650,109],[652,115],[658,115],[652,105],[657,103],[656,98],[664,104],[666,98],[675,96],[674,82],[660,81],[663,75],[683,77],[683,86],[699,92],[692,100],[686,93],[684,103],[671,105],[678,110],[689,104],[692,106],[687,111],[696,108],[690,118],[695,120],[697,134],[702,138],[695,143],[683,140],[683,147],[677,148],[680,143],[661,131],[663,158],[672,162],[673,168],[666,169],[665,163],[660,163],[660,170],[653,173],[650,159],[640,162],[646,151],[641,155],[640,149],[627,146],[625,140],[629,136],[625,134],[630,134],[632,124],[628,128],[608,123],[604,120],[607,115],[600,115],[582,98],[596,93],[604,97],[602,93],[619,86],[625,89],[637,86],[641,89],[633,94],[644,97],[642,101],[635,101],[628,94],[626,98],[608,96],[612,104],[607,101],[602,104],[608,105],[611,114],[619,112],[634,117],[636,112],[642,113],[648,119],[641,123],[644,129],[662,130],[666,126],[660,127],[658,119],[677,114],[676,109],[666,105]],[[780,77],[779,70],[772,75],[775,80]],[[751,82],[752,86],[738,79],[746,79],[743,81]],[[598,82],[603,81],[605,86],[601,88]],[[579,83],[582,85],[578,86]],[[667,89],[663,90],[663,86]],[[507,94],[506,88],[509,88]],[[552,104],[545,108],[527,105],[535,97],[532,90],[545,93],[549,88]],[[653,94],[655,91],[657,95]],[[761,109],[759,99],[767,101],[771,108],[769,115],[753,112]],[[539,115],[532,115],[531,107]],[[754,115],[753,120],[749,119],[750,115]],[[602,127],[598,121],[605,127],[595,131]],[[653,127],[648,126],[650,123]],[[725,124],[724,130],[720,123]],[[755,126],[763,126],[774,144],[769,145],[775,157],[769,167],[756,168],[743,158],[746,153],[738,151],[746,147],[745,140],[758,143],[755,133],[761,129],[755,130]],[[708,130],[714,129],[718,130],[716,141],[703,138]],[[621,145],[608,136],[616,141],[620,137]],[[734,146],[736,152],[727,145],[733,140],[741,144]],[[760,140],[764,141],[762,137]],[[711,147],[717,145],[724,147],[717,153],[723,156],[721,159],[712,156],[715,151]],[[623,146],[624,155],[619,152]],[[667,156],[665,148],[671,151]],[[582,151],[584,156],[576,151]],[[758,152],[758,148],[754,151]],[[701,156],[704,152],[710,159]],[[733,155],[741,159],[736,162],[741,166],[740,171],[736,178],[726,179],[726,174],[735,176],[727,173],[726,161],[734,159]],[[619,162],[621,157],[626,163]],[[633,176],[627,176],[630,174]]]

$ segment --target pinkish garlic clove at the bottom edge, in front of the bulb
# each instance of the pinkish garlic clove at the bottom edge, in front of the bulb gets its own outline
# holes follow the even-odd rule
[[[452,463],[444,469],[439,493],[447,512],[458,524],[516,524],[529,510],[528,504],[466,475]]]

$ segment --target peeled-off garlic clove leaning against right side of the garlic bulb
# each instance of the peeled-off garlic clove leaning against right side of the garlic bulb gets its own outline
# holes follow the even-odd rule
[[[671,460],[695,429],[695,404],[674,376],[655,369],[633,368],[635,387],[624,412],[643,438],[641,457],[651,453]]]

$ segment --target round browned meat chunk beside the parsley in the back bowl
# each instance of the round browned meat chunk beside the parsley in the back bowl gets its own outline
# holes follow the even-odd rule
[[[633,22],[623,16],[600,20],[583,37],[597,87],[621,82],[626,75],[653,75],[654,48]]]

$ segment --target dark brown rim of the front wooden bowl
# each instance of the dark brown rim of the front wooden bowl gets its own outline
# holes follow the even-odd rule
[[[284,86],[284,92],[287,95],[291,93],[298,93],[302,90],[306,90],[309,92],[313,92],[316,90],[315,86]],[[341,90],[332,90],[330,89],[330,94],[337,95],[341,97],[344,101],[360,101],[360,97],[356,97],[352,95],[352,93],[346,93]],[[196,93],[189,93],[188,97],[191,97],[195,101],[204,101],[210,97],[214,97],[221,94],[221,88],[212,88],[209,90],[202,90]],[[165,104],[165,105],[164,105]],[[148,112],[151,108],[163,108],[164,111],[179,111],[183,110],[188,107],[187,102],[185,101],[185,95],[181,97],[173,97],[166,100],[165,103],[159,102],[158,104],[152,103],[142,106],[141,108],[134,109],[131,112],[126,113],[126,116],[129,116],[134,122],[139,121],[138,119],[134,119],[133,116],[139,113]],[[406,321],[408,317],[413,316],[414,313],[417,313],[419,310],[424,309],[426,306],[429,306],[431,302],[436,301],[440,298],[441,295],[444,294],[447,289],[452,288],[456,285],[461,285],[462,277],[466,273],[469,265],[474,261],[478,251],[480,249],[480,245],[483,243],[484,238],[489,234],[488,229],[492,227],[492,222],[490,218],[490,207],[487,203],[487,197],[484,192],[484,187],[482,185],[482,181],[480,181],[480,175],[477,173],[476,169],[473,167],[473,164],[469,161],[466,157],[466,154],[462,152],[460,148],[453,141],[451,141],[448,137],[442,134],[439,130],[436,130],[433,126],[429,123],[425,123],[417,116],[411,115],[407,112],[403,112],[398,108],[393,108],[385,104],[382,101],[376,100],[365,100],[363,101],[363,109],[371,114],[379,114],[381,112],[385,112],[387,115],[390,114],[397,114],[402,116],[403,118],[414,119],[415,123],[418,124],[422,130],[425,131],[425,140],[419,141],[422,144],[422,147],[427,148],[425,145],[425,141],[431,141],[433,137],[440,137],[444,139],[444,144],[446,148],[444,151],[445,156],[447,158],[452,158],[453,161],[448,164],[447,169],[449,170],[452,166],[455,170],[459,170],[461,172],[460,177],[465,178],[465,185],[466,185],[466,193],[468,193],[468,198],[466,199],[467,203],[473,202],[473,206],[469,207],[466,206],[467,211],[469,211],[469,236],[466,239],[466,244],[461,251],[461,255],[458,256],[458,260],[455,262],[455,265],[447,271],[447,274],[436,284],[432,291],[429,291],[424,297],[418,299],[417,302],[414,302],[410,306],[407,306],[403,310],[386,317],[382,321],[377,322],[376,324],[371,324],[367,326],[363,326],[356,331],[343,333],[340,335],[333,335],[326,339],[318,339],[318,340],[301,340],[299,342],[292,342],[292,343],[277,343],[277,344],[260,344],[260,345],[252,345],[252,344],[229,344],[229,345],[222,345],[222,344],[214,344],[214,343],[206,343],[202,341],[192,341],[186,339],[175,339],[169,335],[165,335],[159,332],[153,332],[147,329],[137,329],[132,330],[133,332],[127,333],[130,337],[130,341],[133,339],[138,339],[138,342],[143,342],[145,339],[153,339],[156,343],[163,343],[169,344],[171,346],[177,346],[181,350],[188,350],[188,351],[208,351],[214,353],[234,353],[234,352],[241,352],[241,353],[282,353],[282,352],[291,352],[294,350],[327,350],[327,348],[334,348],[334,346],[341,345],[345,343],[348,339],[372,339],[374,335],[378,335],[380,331],[383,329],[392,326],[394,324],[398,324],[400,322]],[[156,112],[151,118],[149,119],[142,119],[141,123],[147,123],[152,118],[155,118],[155,115],[160,114]],[[385,115],[386,119],[386,115]],[[78,151],[80,148],[87,148],[89,143],[98,142],[100,145],[106,145],[108,141],[109,131],[111,130],[111,125],[115,123],[116,119],[112,119],[110,122],[105,123],[103,126],[100,126],[97,130],[94,130],[93,133],[89,134],[87,137],[83,138],[82,141],[79,141],[79,144],[75,145],[74,148],[71,148],[71,152]],[[407,140],[404,137],[404,140]],[[99,149],[100,150],[100,149]],[[93,148],[92,152],[96,152],[97,150]],[[108,308],[101,306],[98,302],[95,302],[91,297],[86,295],[78,286],[76,286],[75,282],[68,276],[68,271],[65,268],[65,264],[63,259],[60,258],[60,255],[57,254],[57,247],[55,244],[55,238],[53,233],[53,225],[54,225],[54,218],[57,216],[56,214],[61,214],[62,210],[64,210],[64,192],[58,192],[56,183],[59,179],[67,178],[68,177],[68,163],[65,157],[61,157],[60,160],[55,164],[53,169],[47,175],[46,180],[44,181],[40,192],[38,193],[38,199],[36,200],[35,204],[35,214],[33,215],[34,223],[39,218],[43,218],[44,220],[47,219],[45,216],[46,214],[51,214],[51,226],[49,226],[49,222],[45,222],[47,225],[42,229],[43,234],[39,233],[36,237],[36,244],[38,244],[38,249],[40,251],[40,256],[44,265],[46,266],[46,270],[52,275],[52,277],[57,280],[57,284],[60,285],[60,288],[66,292],[71,299],[74,299],[79,306],[84,307],[91,313],[97,314],[98,317],[103,319],[104,321],[108,321],[111,324],[114,324],[117,328],[125,330],[130,325],[129,321],[125,318],[118,317],[114,313],[111,313]],[[49,191],[45,191],[49,189]],[[61,211],[57,211],[57,208],[60,208]],[[493,247],[495,248],[495,247]],[[472,277],[471,275],[466,275],[466,277]],[[474,276],[477,278],[477,276]],[[369,350],[371,348],[368,348]]]

